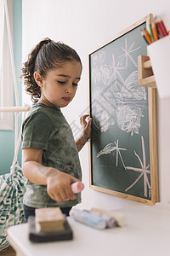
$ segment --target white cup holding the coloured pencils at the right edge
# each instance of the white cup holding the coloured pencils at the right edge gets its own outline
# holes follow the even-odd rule
[[[170,97],[170,36],[157,40],[147,48],[159,96]]]

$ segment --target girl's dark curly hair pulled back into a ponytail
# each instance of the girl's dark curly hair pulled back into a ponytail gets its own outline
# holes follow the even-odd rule
[[[31,50],[28,60],[23,64],[21,78],[24,78],[26,92],[31,95],[33,102],[37,102],[41,97],[41,90],[34,79],[34,72],[37,71],[42,78],[45,78],[49,70],[62,67],[65,61],[78,61],[82,65],[74,49],[49,38],[44,38]]]

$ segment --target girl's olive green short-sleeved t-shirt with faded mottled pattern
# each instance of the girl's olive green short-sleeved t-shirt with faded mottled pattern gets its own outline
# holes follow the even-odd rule
[[[82,179],[77,146],[63,113],[36,103],[31,108],[22,127],[22,148],[42,148],[42,166],[50,166],[61,172]],[[46,185],[26,185],[24,204],[29,207],[72,207],[81,202],[81,194],[74,201],[57,202],[47,193]]]

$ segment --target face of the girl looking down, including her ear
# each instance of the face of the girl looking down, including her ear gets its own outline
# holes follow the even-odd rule
[[[55,108],[66,107],[76,94],[81,73],[78,61],[67,61],[62,67],[48,71],[45,79],[41,76],[38,79],[39,73],[35,72],[34,78],[41,87],[39,102]]]

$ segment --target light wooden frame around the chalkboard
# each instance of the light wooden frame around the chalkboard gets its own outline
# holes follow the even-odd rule
[[[88,55],[88,67],[89,67],[89,106],[90,106],[90,114],[92,113],[93,102],[91,97],[91,63],[90,56],[94,54],[94,52],[99,49],[105,47],[105,45],[110,44],[112,41],[121,38],[122,35],[127,32],[131,32],[135,27],[140,26],[144,22],[146,23],[146,28],[149,28],[149,19],[153,15],[147,15],[142,20],[134,23],[132,26],[127,27],[127,29],[123,30],[116,34],[114,38],[112,38],[109,42],[101,45],[98,49],[95,49]],[[139,201],[148,205],[154,205],[158,199],[158,176],[157,176],[157,143],[156,143],[156,89],[148,88],[148,115],[149,115],[149,135],[150,135],[150,187],[151,187],[151,197],[150,200],[138,197],[135,195],[128,195],[127,193],[117,192],[112,189],[105,189],[105,187],[100,187],[98,185],[94,185],[93,183],[93,167],[92,167],[92,145],[93,139],[90,140],[89,143],[89,183],[90,189],[94,189],[100,192],[104,192],[109,195],[116,195],[119,197],[127,198],[133,201]]]

